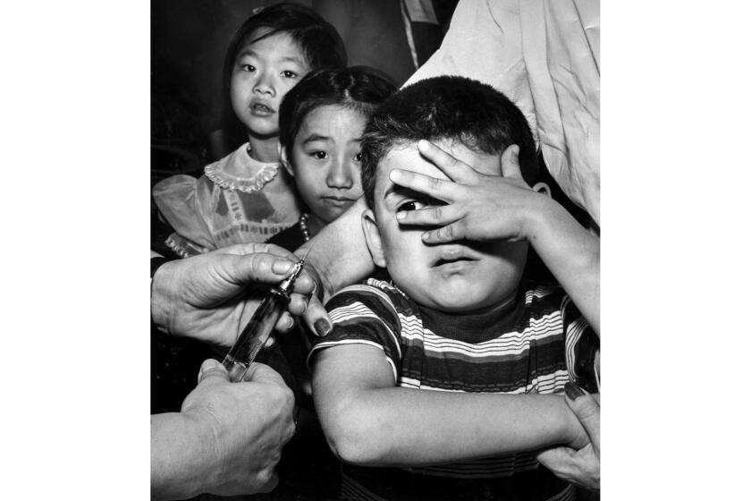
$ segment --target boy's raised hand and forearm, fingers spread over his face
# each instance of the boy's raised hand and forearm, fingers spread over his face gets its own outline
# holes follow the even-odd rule
[[[426,140],[418,149],[449,181],[395,169],[392,182],[447,205],[401,212],[400,224],[441,226],[423,235],[428,243],[527,240],[599,335],[600,241],[559,203],[527,186],[519,148],[503,151],[502,176],[478,173]]]

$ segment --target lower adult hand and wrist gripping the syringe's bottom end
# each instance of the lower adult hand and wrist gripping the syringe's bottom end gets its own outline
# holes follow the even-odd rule
[[[151,416],[151,497],[185,499],[272,490],[274,466],[294,434],[294,396],[273,369],[254,363],[244,382],[207,360],[181,412]]]

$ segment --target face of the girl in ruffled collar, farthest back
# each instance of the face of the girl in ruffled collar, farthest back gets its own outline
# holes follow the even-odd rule
[[[249,40],[262,35],[263,31],[253,33]],[[278,136],[282,99],[308,72],[308,60],[287,33],[248,43],[238,52],[232,68],[232,110],[250,134]]]

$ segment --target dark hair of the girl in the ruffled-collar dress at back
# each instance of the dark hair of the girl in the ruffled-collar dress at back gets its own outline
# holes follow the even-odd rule
[[[259,29],[268,29],[268,32],[249,40],[257,36]],[[347,51],[339,32],[312,9],[300,4],[259,7],[242,23],[227,48],[224,57],[225,94],[229,93],[232,67],[242,47],[282,32],[289,34],[300,45],[311,69],[343,68],[347,65]]]

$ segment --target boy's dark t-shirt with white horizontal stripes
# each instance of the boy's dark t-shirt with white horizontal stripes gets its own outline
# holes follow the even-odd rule
[[[384,351],[396,386],[552,394],[572,380],[596,391],[599,338],[560,286],[520,288],[501,310],[456,315],[419,306],[392,284],[369,279],[334,295],[326,309],[333,331],[310,357],[339,344],[375,346]],[[478,497],[467,497],[477,486]],[[573,498],[570,486],[534,454],[403,469],[345,465],[342,488],[354,499]]]

